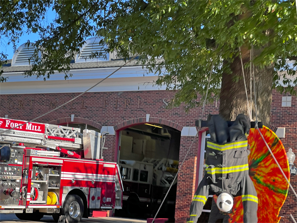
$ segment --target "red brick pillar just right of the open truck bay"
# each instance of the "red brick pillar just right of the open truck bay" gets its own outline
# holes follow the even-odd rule
[[[175,222],[185,223],[189,216],[190,205],[195,194],[196,167],[198,155],[198,137],[181,137],[179,162],[182,164],[193,140],[195,139],[190,152],[180,168],[177,178]]]

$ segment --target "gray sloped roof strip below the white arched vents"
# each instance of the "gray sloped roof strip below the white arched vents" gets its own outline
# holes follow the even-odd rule
[[[127,63],[125,66],[139,66],[141,64],[137,63],[138,60],[132,60]],[[110,61],[98,61],[98,62],[82,62],[75,63],[74,60],[71,65],[71,69],[86,69],[86,68],[104,68],[104,67],[120,67],[125,64],[125,61],[122,59],[110,60]],[[11,59],[7,60],[7,63],[4,64],[1,68],[4,73],[8,72],[24,72],[30,70],[30,66],[11,66]]]

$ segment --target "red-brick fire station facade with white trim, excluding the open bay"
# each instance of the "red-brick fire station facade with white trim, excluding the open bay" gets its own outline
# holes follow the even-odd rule
[[[87,41],[81,55],[87,52]],[[28,62],[21,56],[30,56],[28,48],[22,45],[13,59],[2,67],[3,76],[9,77],[0,84],[0,117],[20,120],[32,120],[63,103],[73,99],[92,87],[107,75],[124,64],[122,60],[113,60],[112,55],[95,60],[84,59],[79,55],[71,64],[73,77],[64,80],[64,74],[53,74],[49,80],[37,80],[35,77],[24,78],[22,72],[29,69]],[[183,223],[188,216],[189,206],[201,178],[199,167],[202,134],[197,135],[195,121],[200,118],[201,108],[188,113],[183,106],[166,109],[173,91],[166,91],[153,85],[156,76],[135,63],[129,63],[104,80],[95,88],[78,97],[71,103],[36,119],[36,122],[51,124],[76,123],[86,125],[101,132],[106,131],[103,157],[105,161],[119,161],[121,131],[129,127],[150,123],[167,126],[180,133],[178,159],[187,159],[180,169],[176,189],[175,222]],[[198,99],[199,100],[199,99]],[[208,104],[203,119],[208,113],[218,113],[219,102]],[[278,134],[286,151],[289,148],[297,154],[297,97],[281,95],[273,91],[271,106],[271,125],[279,128]],[[194,143],[193,143],[193,140]],[[192,144],[193,143],[193,144]],[[191,146],[192,145],[192,146]],[[191,148],[190,148],[191,146]],[[295,162],[297,165],[297,161]],[[297,190],[297,176],[291,178],[292,186]],[[293,214],[297,218],[297,198],[289,189],[288,198],[281,210],[282,216]],[[290,222],[283,217],[281,222]]]

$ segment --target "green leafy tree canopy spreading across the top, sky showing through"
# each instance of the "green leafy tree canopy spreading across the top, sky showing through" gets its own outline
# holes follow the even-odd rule
[[[38,33],[31,69],[24,74],[46,80],[54,72],[71,76],[70,61],[91,36],[99,36],[122,58],[140,55],[159,78],[156,84],[180,89],[175,105],[197,105],[205,94],[219,94],[223,72],[239,55],[254,49],[253,64],[275,67],[274,86],[291,94],[297,79],[295,0],[1,0],[0,36],[14,47],[23,32]],[[47,10],[56,17],[44,23]],[[38,57],[38,51],[42,56]],[[94,54],[96,56],[96,54]],[[3,51],[0,61],[6,60]],[[2,65],[0,64],[0,66]],[[250,65],[245,63],[246,69]],[[166,70],[165,73],[161,71]],[[0,76],[1,81],[5,78]],[[235,80],[236,81],[236,80]]]

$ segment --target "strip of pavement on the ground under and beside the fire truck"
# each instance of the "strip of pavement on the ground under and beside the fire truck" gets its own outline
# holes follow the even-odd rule
[[[39,222],[19,220],[15,214],[0,214],[1,223],[54,223],[51,216],[43,217]],[[112,217],[90,217],[82,219],[81,223],[147,223],[147,220],[112,218]]]

